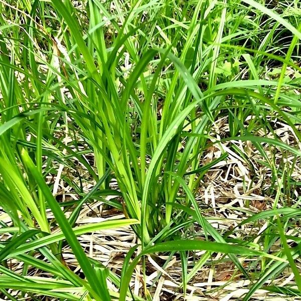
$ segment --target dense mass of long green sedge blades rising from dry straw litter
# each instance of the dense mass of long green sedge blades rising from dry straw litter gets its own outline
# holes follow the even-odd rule
[[[222,152],[203,164],[214,145],[251,142],[278,191],[285,181],[264,145],[299,162],[300,150],[280,140],[271,124],[285,123],[301,140],[300,101],[293,92],[299,89],[301,33],[293,6],[298,3],[281,3],[281,13],[254,0],[0,2],[0,204],[11,220],[0,229],[10,234],[0,250],[0,288],[8,298],[14,289],[66,300],[142,299],[128,288],[131,275],[144,255],[156,252],[180,252],[184,294],[216,252],[254,280],[244,300],[288,265],[299,288],[298,248],[285,236],[297,209],[282,203],[280,194],[272,210],[247,219],[269,221],[257,244],[231,240],[235,229],[213,227],[196,200],[206,172],[227,160]],[[295,78],[285,77],[287,68]],[[278,77],[266,79],[266,69],[277,69]],[[228,136],[213,135],[219,118],[227,118]],[[231,151],[251,164],[234,142]],[[89,179],[64,175],[80,199],[60,204],[49,175],[60,179],[63,169],[76,172],[77,164]],[[85,181],[94,183],[87,195]],[[122,203],[103,198],[112,195]],[[126,218],[77,226],[80,210],[95,198]],[[204,240],[181,235],[195,223]],[[132,261],[137,246],[128,252],[119,275],[88,257],[77,236],[125,225],[137,235],[141,252]],[[66,266],[63,242],[84,279]],[[274,252],[276,242],[282,247]],[[206,252],[188,271],[188,252],[194,250]],[[260,273],[250,275],[242,264],[247,257],[262,259]],[[10,258],[23,262],[21,274],[8,268]],[[30,277],[29,266],[51,278]],[[152,298],[145,285],[144,296]]]

